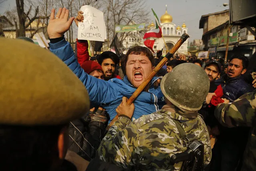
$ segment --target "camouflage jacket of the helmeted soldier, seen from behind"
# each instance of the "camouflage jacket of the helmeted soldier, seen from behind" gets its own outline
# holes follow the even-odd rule
[[[99,158],[131,170],[179,170],[182,162],[170,165],[170,157],[187,148],[174,119],[181,122],[190,141],[197,139],[204,143],[204,163],[209,164],[212,151],[202,117],[198,113],[184,117],[174,110],[163,109],[133,122],[119,117],[101,141]]]

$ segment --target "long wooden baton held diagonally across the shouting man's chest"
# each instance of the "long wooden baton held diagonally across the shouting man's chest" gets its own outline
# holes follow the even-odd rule
[[[131,105],[133,101],[141,94],[141,92],[145,89],[147,84],[151,81],[151,79],[155,76],[155,74],[163,67],[163,65],[167,62],[168,59],[170,59],[173,54],[179,49],[179,47],[189,38],[189,35],[186,33],[183,33],[178,42],[173,46],[173,48],[165,55],[165,57],[157,64],[157,66],[154,68],[154,70],[151,72],[151,74],[145,79],[141,85],[137,88],[137,90],[131,95],[131,97],[127,100],[127,104]],[[115,123],[117,120],[118,115],[115,116],[115,118],[109,123],[107,130]]]

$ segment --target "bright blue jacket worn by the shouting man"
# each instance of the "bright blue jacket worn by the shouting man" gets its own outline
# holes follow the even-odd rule
[[[113,78],[109,81],[105,81],[87,74],[80,67],[71,45],[65,39],[54,44],[50,43],[50,51],[65,62],[83,82],[89,93],[90,101],[93,103],[101,103],[103,108],[106,109],[110,116],[109,122],[117,115],[115,109],[117,109],[122,102],[122,97],[130,98],[136,90],[129,82],[127,76],[123,78],[124,80]],[[157,79],[158,77],[154,77],[151,80],[149,91],[143,91],[134,101],[135,110],[133,117],[135,119],[138,119],[142,115],[154,113],[165,105],[160,86],[158,86],[157,89],[153,86],[153,82]]]

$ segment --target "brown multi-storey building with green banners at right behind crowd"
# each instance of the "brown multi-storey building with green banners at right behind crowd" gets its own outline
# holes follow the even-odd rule
[[[234,54],[241,54],[250,58],[255,52],[255,37],[247,28],[240,28],[236,25],[230,26],[229,10],[203,15],[200,19],[199,28],[204,29],[202,40],[204,50],[209,51],[209,58],[224,58],[228,39],[227,59]]]

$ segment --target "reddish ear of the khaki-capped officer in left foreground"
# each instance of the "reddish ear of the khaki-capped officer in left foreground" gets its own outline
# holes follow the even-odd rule
[[[68,135],[67,135],[67,127],[61,129],[60,134],[58,135],[58,157],[60,159],[64,159],[67,153],[67,145],[68,145]]]

